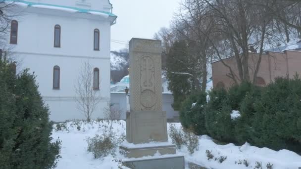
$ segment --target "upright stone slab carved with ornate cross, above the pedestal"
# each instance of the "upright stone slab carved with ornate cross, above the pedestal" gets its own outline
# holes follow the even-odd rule
[[[130,41],[130,110],[162,111],[161,42]]]

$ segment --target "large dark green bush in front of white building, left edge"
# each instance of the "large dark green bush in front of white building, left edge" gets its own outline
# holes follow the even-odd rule
[[[15,76],[0,61],[0,169],[51,169],[60,141],[51,142],[49,110],[27,70]]]

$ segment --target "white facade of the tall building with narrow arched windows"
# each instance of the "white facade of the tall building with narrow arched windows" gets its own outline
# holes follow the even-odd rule
[[[100,103],[93,118],[103,118],[110,101],[110,27],[116,16],[108,0],[20,1],[14,11],[17,44],[10,44],[17,71],[35,72],[39,91],[50,108],[50,120],[84,119],[77,110],[75,82],[84,61],[100,70]],[[54,47],[54,26],[59,25],[60,47]],[[94,30],[100,30],[100,50],[94,50]],[[9,39],[9,38],[8,38]],[[9,43],[9,42],[8,42]],[[60,88],[53,89],[53,67],[60,68]]]

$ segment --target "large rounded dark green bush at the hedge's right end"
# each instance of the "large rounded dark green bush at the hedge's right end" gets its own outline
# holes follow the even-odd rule
[[[253,144],[301,152],[301,80],[276,78],[254,103]]]

